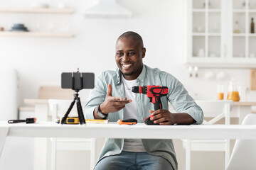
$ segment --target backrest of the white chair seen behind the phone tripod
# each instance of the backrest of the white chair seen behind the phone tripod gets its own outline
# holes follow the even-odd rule
[[[72,100],[58,100],[58,99],[49,99],[49,108],[50,113],[52,114],[52,120],[55,121],[56,118],[63,117],[65,113],[68,111]],[[85,106],[86,101],[81,101],[82,108]],[[69,116],[76,116],[78,117],[78,109],[75,105],[73,106],[72,110],[70,111]]]

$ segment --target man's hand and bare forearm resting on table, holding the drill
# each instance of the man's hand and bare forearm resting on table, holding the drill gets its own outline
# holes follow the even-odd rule
[[[171,113],[165,109],[159,109],[157,111],[150,110],[149,113],[153,115],[150,120],[154,120],[154,123],[159,123],[159,125],[190,125],[196,122],[188,113]]]

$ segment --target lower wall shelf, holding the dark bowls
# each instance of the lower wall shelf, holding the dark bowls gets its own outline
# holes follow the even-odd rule
[[[14,32],[2,31],[0,36],[6,37],[42,37],[42,38],[73,38],[71,33],[38,33],[38,32]]]

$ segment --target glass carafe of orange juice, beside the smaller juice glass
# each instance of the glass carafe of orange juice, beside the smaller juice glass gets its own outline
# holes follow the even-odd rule
[[[227,100],[240,101],[238,83],[235,79],[231,79],[228,85]]]

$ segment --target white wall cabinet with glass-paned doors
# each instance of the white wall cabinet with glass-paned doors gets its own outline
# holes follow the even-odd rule
[[[256,0],[186,0],[186,64],[256,68]]]

